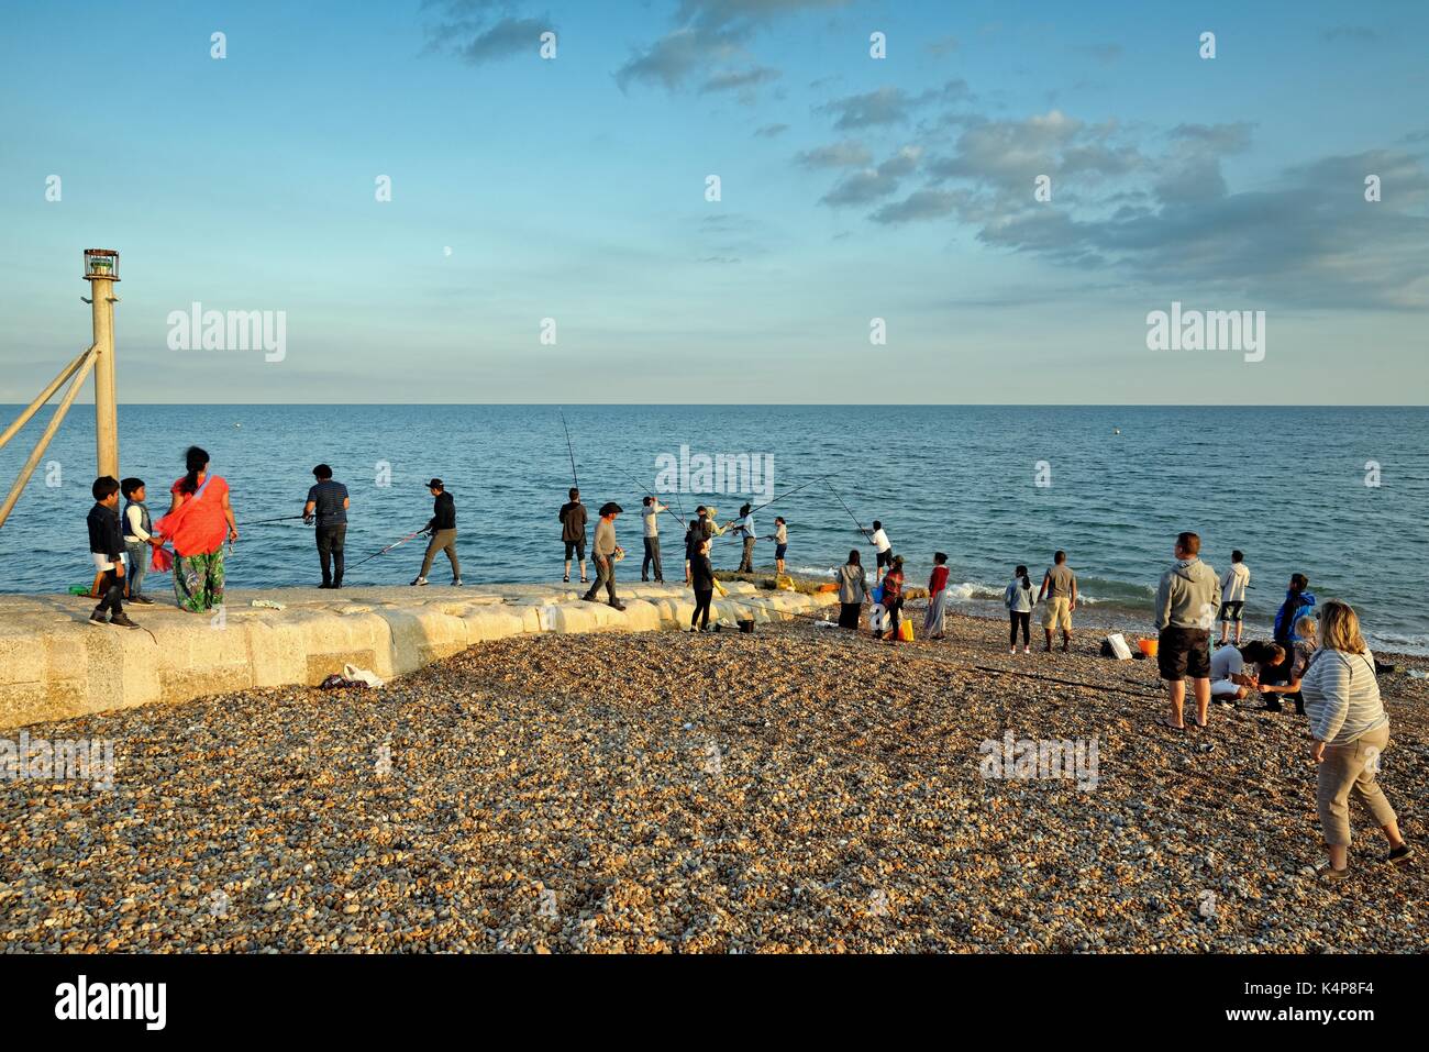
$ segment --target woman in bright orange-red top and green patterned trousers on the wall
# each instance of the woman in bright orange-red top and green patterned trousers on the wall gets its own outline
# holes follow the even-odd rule
[[[179,609],[201,613],[223,606],[223,542],[237,540],[229,505],[229,483],[209,473],[209,455],[197,446],[184,453],[189,473],[169,490],[169,515],[154,533],[174,545],[174,599]]]

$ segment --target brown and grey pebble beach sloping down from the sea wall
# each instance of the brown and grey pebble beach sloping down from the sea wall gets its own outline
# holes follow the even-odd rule
[[[0,948],[1429,951],[1425,659],[1379,655],[1420,856],[1379,862],[1352,803],[1356,875],[1322,886],[1293,709],[1173,732],[1155,662],[1097,633],[1010,656],[1002,622],[947,627],[516,637],[377,690],[31,726],[113,739],[116,785],[0,783]],[[1095,742],[1095,778],[987,776],[1009,733]]]

